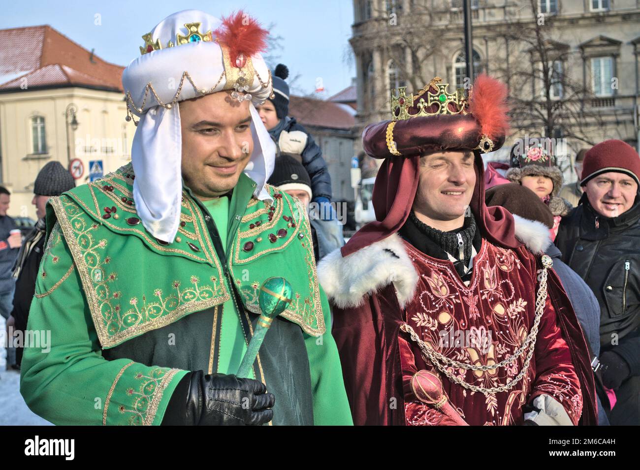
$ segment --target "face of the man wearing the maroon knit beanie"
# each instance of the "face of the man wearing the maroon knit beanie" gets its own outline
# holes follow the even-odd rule
[[[627,212],[634,205],[637,191],[634,178],[617,171],[595,176],[584,187],[589,204],[604,217],[618,217]]]

